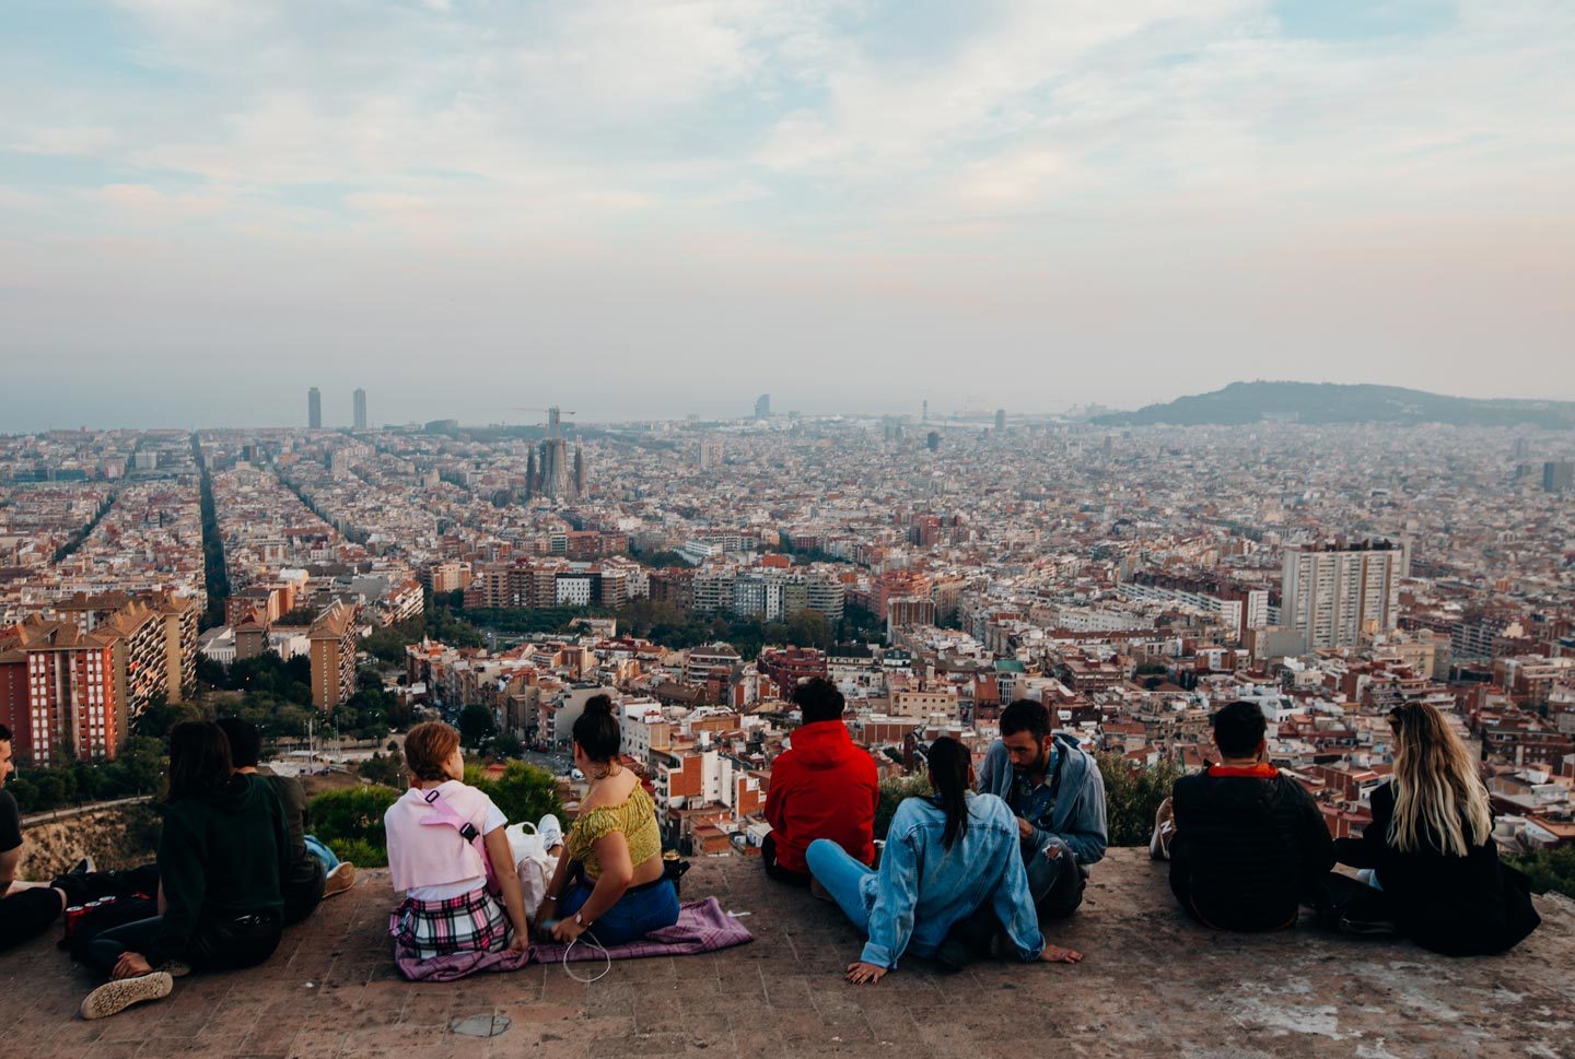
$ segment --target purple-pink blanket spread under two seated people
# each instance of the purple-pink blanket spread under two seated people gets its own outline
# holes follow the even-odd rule
[[[639,960],[644,957],[687,957],[695,952],[715,952],[731,949],[754,941],[754,935],[743,928],[737,919],[729,916],[717,903],[715,897],[699,902],[684,902],[679,905],[679,921],[671,927],[654,930],[639,941],[613,946],[606,950],[614,960]],[[457,952],[447,957],[430,957],[417,960],[408,950],[394,950],[394,963],[411,982],[452,982],[471,974],[518,971],[528,963],[556,963],[564,958],[567,946],[532,944],[524,952]],[[600,960],[602,950],[591,946],[575,946],[569,952],[570,963],[576,960]]]

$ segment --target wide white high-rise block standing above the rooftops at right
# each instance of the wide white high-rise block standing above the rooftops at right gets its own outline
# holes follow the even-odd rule
[[[1280,625],[1304,650],[1354,645],[1369,628],[1388,633],[1399,604],[1400,549],[1389,541],[1285,549]]]

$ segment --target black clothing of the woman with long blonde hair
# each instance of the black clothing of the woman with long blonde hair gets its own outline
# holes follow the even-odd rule
[[[1466,856],[1432,847],[1400,853],[1389,845],[1392,784],[1372,793],[1372,807],[1362,837],[1340,839],[1340,862],[1377,869],[1383,895],[1375,900],[1411,941],[1452,957],[1488,955],[1515,947],[1542,922],[1526,876],[1499,862],[1492,837]]]

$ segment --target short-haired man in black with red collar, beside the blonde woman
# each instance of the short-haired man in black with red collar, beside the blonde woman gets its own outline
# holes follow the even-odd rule
[[[1169,798],[1170,889],[1210,927],[1292,927],[1301,905],[1325,905],[1334,867],[1329,828],[1312,795],[1268,763],[1257,703],[1222,707],[1213,727],[1219,765],[1183,776]]]

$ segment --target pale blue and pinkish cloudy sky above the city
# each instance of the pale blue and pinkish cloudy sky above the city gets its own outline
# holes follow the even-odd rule
[[[0,433],[1575,400],[1569,0],[5,0]]]

